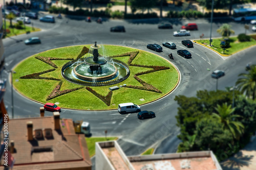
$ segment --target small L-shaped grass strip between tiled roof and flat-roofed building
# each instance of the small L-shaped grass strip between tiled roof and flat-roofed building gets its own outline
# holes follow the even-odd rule
[[[95,143],[101,141],[117,140],[117,137],[86,137],[90,157],[95,155]]]

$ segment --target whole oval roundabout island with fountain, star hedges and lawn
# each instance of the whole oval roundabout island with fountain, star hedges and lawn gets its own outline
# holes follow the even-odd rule
[[[13,80],[18,81],[13,86],[39,103],[109,110],[127,101],[142,105],[158,100],[179,82],[176,67],[158,55],[123,46],[101,46],[68,46],[28,57],[14,68],[17,74]],[[117,51],[109,53],[113,48]],[[112,86],[119,89],[109,90]]]

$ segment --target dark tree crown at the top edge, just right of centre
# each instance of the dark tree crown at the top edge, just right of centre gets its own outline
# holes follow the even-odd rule
[[[130,3],[131,9],[140,9],[143,13],[145,9],[150,10],[152,7],[154,7],[157,3],[157,0],[130,0]]]

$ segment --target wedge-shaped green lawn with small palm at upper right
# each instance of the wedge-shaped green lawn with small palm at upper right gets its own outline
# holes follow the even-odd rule
[[[230,47],[225,48],[225,53],[223,53],[223,48],[220,47],[221,40],[222,40],[222,38],[212,39],[211,45],[214,45],[214,46],[211,46],[210,48],[219,52],[220,54],[225,54],[225,55],[231,55],[231,54],[237,53],[240,50],[243,50],[251,45],[256,45],[256,40],[254,40],[253,38],[251,38],[251,41],[249,41],[249,42],[239,42],[237,37],[230,37],[229,38]],[[196,42],[203,43],[204,45],[210,44],[209,40],[202,40],[202,41],[196,40]]]

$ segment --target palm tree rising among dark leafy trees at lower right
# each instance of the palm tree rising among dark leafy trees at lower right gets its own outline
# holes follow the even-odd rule
[[[217,105],[215,109],[218,113],[212,113],[212,117],[217,118],[222,124],[223,129],[228,129],[232,133],[233,138],[239,139],[244,133],[244,125],[236,121],[236,118],[242,116],[232,114],[234,108],[231,108],[231,105],[227,105],[227,103],[222,106]]]

